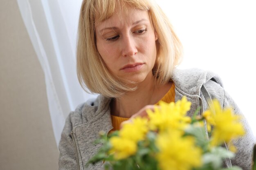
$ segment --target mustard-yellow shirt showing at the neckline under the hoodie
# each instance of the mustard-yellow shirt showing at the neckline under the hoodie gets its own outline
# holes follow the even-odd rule
[[[174,85],[174,83],[172,84],[170,90],[164,95],[164,97],[161,100],[166,103],[175,102],[175,85]],[[158,105],[158,104],[159,104],[159,102],[156,103],[156,105]],[[118,116],[111,115],[113,129],[110,130],[110,132],[119,130],[120,124],[123,121],[126,121],[128,119],[129,118],[126,118],[126,117],[118,117]]]

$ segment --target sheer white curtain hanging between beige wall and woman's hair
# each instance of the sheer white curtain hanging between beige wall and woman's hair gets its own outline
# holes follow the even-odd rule
[[[17,2],[45,73],[49,112],[58,145],[70,111],[96,97],[85,93],[76,77],[76,29],[81,0]]]

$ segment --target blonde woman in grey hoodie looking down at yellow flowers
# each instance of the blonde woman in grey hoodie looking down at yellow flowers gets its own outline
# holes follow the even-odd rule
[[[186,96],[192,102],[188,115],[198,106],[202,113],[209,98],[223,107],[240,110],[213,73],[198,69],[180,71],[182,45],[171,24],[151,0],[83,0],[79,19],[77,72],[79,82],[100,94],[67,117],[59,144],[60,170],[84,169],[99,148],[98,132],[111,132],[121,122],[145,116],[160,100],[174,102]],[[250,169],[253,136],[235,142],[237,157],[226,161]],[[102,163],[88,170],[101,169]]]

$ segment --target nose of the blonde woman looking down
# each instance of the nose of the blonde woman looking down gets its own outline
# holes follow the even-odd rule
[[[138,53],[136,43],[131,36],[125,36],[122,41],[122,55],[124,57],[133,56]]]

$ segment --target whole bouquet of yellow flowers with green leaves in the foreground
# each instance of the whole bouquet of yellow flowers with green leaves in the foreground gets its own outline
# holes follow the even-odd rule
[[[103,146],[89,163],[104,161],[106,170],[225,170],[225,159],[235,156],[232,140],[245,134],[241,117],[213,100],[202,115],[198,108],[186,116],[191,102],[160,102],[119,131],[100,132]],[[228,145],[228,149],[223,145]],[[229,170],[241,170],[233,166]]]

